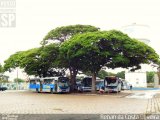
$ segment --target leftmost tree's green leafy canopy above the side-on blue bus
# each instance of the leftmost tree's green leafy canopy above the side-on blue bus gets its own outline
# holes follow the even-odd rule
[[[54,63],[57,60],[58,53],[59,47],[56,44],[17,52],[5,61],[4,68],[8,71],[20,67],[28,75],[39,77],[61,75],[61,72],[56,71],[57,66]]]

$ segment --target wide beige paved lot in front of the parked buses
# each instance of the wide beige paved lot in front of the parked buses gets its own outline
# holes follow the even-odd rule
[[[136,91],[138,92],[138,91]],[[108,114],[146,113],[148,99],[120,94],[49,94],[29,91],[0,92],[2,114]]]

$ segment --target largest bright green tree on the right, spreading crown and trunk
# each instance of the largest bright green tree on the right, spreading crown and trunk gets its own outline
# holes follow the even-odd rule
[[[156,63],[159,58],[148,45],[116,30],[76,35],[65,43],[65,48],[68,62],[73,60],[77,69],[92,73],[92,92],[103,66],[136,70],[141,63]]]

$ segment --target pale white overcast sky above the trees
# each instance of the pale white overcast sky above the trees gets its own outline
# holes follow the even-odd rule
[[[132,23],[150,26],[150,45],[160,54],[160,0],[16,0],[16,27],[0,27],[0,63],[17,51],[40,46],[59,26],[120,30]]]

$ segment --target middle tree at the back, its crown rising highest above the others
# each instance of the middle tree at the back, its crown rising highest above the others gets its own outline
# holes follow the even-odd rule
[[[95,32],[98,31],[99,28],[91,26],[91,25],[68,25],[57,27],[51,30],[41,42],[42,45],[50,44],[56,40],[60,43],[63,43],[65,40],[69,40],[72,36],[76,34],[82,34],[86,32]],[[75,79],[78,73],[77,63],[72,62],[75,60],[69,60],[66,57],[66,45],[64,44],[62,48],[60,48],[60,57],[59,57],[59,67],[60,68],[68,68],[70,71],[70,78],[71,78],[71,91],[74,89],[75,86]]]

